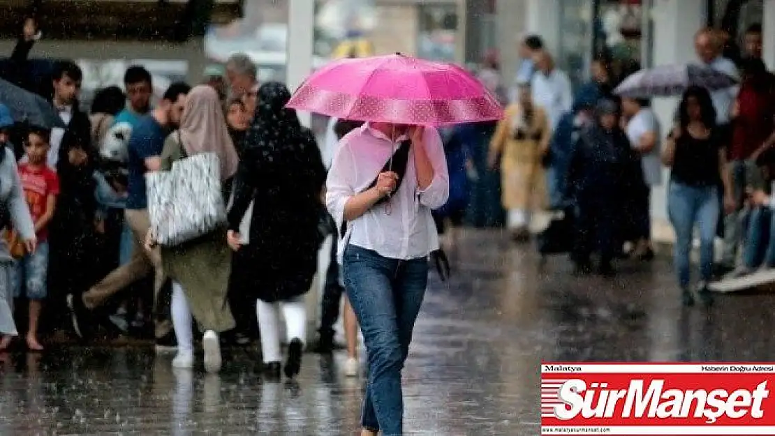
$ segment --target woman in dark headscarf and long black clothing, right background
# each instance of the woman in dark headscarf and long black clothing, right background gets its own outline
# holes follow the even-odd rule
[[[618,105],[601,100],[595,109],[594,125],[581,133],[571,159],[568,189],[577,206],[573,253],[577,273],[590,271],[594,250],[600,254],[599,273],[613,273],[611,260],[619,242],[618,204],[629,178],[638,173],[639,163],[618,119]]]

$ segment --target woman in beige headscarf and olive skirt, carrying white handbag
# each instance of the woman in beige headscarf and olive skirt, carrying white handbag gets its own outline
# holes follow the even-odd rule
[[[164,142],[161,170],[198,153],[215,153],[221,163],[222,186],[236,173],[236,149],[229,136],[218,94],[207,85],[188,93],[181,127]],[[224,190],[226,191],[226,190]],[[224,192],[224,198],[228,198]],[[172,365],[191,368],[194,364],[191,314],[205,331],[205,369],[221,367],[219,333],[234,328],[226,298],[231,272],[231,252],[223,240],[226,228],[215,230],[191,242],[162,249],[164,272],[173,280],[172,323],[177,337],[177,357]]]

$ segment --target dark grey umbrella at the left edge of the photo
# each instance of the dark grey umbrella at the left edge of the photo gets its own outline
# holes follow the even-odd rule
[[[26,122],[46,129],[67,127],[53,105],[45,98],[2,79],[0,79],[0,103],[8,106],[15,122]]]

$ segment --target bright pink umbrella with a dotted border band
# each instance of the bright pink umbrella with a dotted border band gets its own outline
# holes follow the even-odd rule
[[[463,68],[401,54],[343,59],[322,67],[301,84],[288,107],[432,127],[503,118],[498,101]]]

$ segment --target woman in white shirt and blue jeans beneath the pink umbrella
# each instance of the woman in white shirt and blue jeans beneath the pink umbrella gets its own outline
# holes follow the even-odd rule
[[[401,175],[381,170],[394,142],[407,155]],[[425,294],[427,256],[439,247],[431,210],[449,194],[439,133],[364,125],[340,142],[326,187],[329,211],[348,223],[344,282],[369,355],[363,428],[402,434],[401,368]]]

